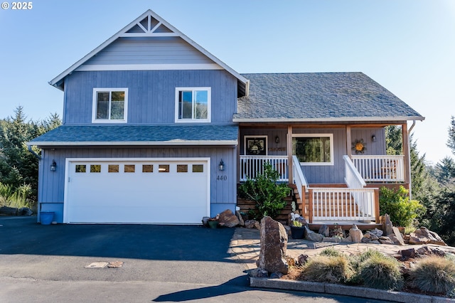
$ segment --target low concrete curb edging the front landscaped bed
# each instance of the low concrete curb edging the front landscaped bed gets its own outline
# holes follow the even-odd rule
[[[250,277],[250,287],[288,289],[302,292],[321,292],[325,294],[341,294],[350,297],[363,297],[367,299],[382,299],[393,302],[412,303],[442,303],[455,302],[455,299],[446,297],[427,296],[424,294],[411,294],[409,292],[394,292],[391,290],[373,289],[358,286],[339,285],[332,283],[293,281],[281,279],[268,279]]]

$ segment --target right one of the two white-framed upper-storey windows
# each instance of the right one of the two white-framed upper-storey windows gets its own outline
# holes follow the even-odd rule
[[[210,87],[176,87],[176,122],[210,122]]]

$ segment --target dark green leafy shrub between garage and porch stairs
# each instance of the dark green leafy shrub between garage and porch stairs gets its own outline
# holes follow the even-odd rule
[[[244,184],[239,186],[239,196],[256,202],[256,218],[264,216],[277,218],[279,213],[286,206],[284,198],[289,194],[291,188],[287,184],[277,184],[279,179],[278,171],[272,168],[272,164],[264,163],[264,173],[258,174],[256,179],[248,177]]]

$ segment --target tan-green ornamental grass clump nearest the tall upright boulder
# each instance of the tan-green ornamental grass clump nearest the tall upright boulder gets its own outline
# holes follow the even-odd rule
[[[348,259],[345,256],[328,257],[326,255],[318,255],[312,257],[304,265],[300,277],[304,280],[315,282],[344,283],[352,274]]]

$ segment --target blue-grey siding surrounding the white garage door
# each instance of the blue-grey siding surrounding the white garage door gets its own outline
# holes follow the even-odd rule
[[[45,149],[40,161],[41,178],[38,181],[38,202],[45,205],[41,211],[55,211],[59,222],[63,220],[65,193],[65,159],[67,158],[106,158],[106,159],[154,159],[156,158],[210,158],[210,208],[211,216],[231,209],[237,203],[237,150],[235,147],[182,147],[182,148],[77,148]],[[225,170],[218,164],[223,159]],[[57,169],[50,171],[55,160]],[[178,184],[175,184],[178,187]],[[171,198],[185,198],[173,196]],[[53,206],[54,204],[54,206]],[[172,211],[172,205],[169,205]],[[202,218],[201,218],[202,219]]]

